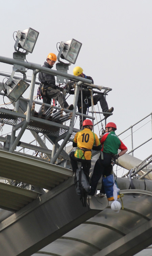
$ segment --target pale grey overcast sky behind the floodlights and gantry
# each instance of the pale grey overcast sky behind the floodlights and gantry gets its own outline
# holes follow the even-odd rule
[[[115,122],[119,134],[151,113],[151,14],[151,0],[6,0],[1,4],[0,55],[12,58],[13,32],[28,27],[40,32],[28,62],[43,65],[49,52],[57,55],[57,42],[80,41],[77,62],[68,73],[81,66],[95,84],[112,88],[106,99],[114,112],[107,122]],[[0,63],[0,71],[11,73],[12,66]],[[0,76],[0,82],[3,78]],[[79,127],[79,120],[77,124]],[[95,132],[99,135],[98,128]],[[138,131],[134,146],[151,136],[149,121]],[[124,143],[129,147],[130,136]],[[151,147],[150,142],[134,155],[143,160],[151,154]]]

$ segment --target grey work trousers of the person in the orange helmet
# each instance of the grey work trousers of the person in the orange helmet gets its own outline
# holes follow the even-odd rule
[[[61,108],[67,109],[69,107],[69,104],[67,103],[65,96],[60,92],[59,89],[54,88],[46,88],[45,95],[43,94],[42,90],[40,89],[41,96],[44,103],[51,104],[51,98],[58,101]],[[48,107],[45,107],[45,112],[48,109]]]

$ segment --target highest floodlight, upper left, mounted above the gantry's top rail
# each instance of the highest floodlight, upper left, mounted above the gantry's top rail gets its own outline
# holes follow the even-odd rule
[[[18,30],[16,35],[17,41],[14,45],[15,50],[17,51],[17,47],[19,47],[32,53],[38,36],[39,32],[31,27],[23,31]]]

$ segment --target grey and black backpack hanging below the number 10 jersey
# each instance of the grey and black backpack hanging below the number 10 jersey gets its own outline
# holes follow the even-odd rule
[[[76,193],[80,196],[80,200],[82,201],[83,206],[86,206],[85,204],[86,197],[91,190],[90,182],[89,182],[90,177],[88,176],[87,178],[82,170],[82,167],[76,170],[75,177],[74,177],[74,186],[76,188]]]

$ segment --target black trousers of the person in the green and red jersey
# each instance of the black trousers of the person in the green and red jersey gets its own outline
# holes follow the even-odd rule
[[[114,163],[116,158],[113,159]],[[91,192],[90,195],[94,195],[97,189],[98,181],[100,180],[101,176],[109,176],[112,172],[112,155],[103,152],[103,160],[101,156],[96,161],[94,166],[93,175],[91,177]],[[101,193],[104,193],[103,186],[100,190]]]

